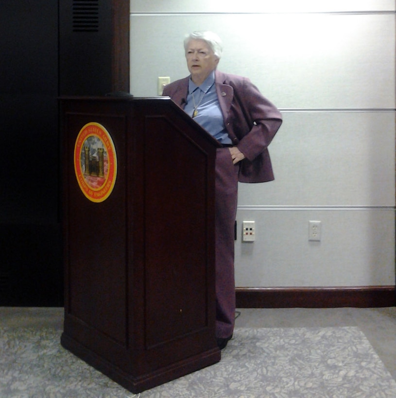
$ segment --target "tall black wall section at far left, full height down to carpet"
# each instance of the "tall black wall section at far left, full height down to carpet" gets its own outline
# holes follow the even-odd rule
[[[58,4],[0,3],[0,305],[61,305]]]

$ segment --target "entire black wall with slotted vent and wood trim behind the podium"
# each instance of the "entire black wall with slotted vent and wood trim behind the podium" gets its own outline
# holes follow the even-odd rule
[[[58,98],[129,90],[129,0],[0,2],[0,305],[63,305]]]

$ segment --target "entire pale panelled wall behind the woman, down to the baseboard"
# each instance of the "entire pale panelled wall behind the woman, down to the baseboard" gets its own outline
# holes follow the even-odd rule
[[[224,41],[219,69],[282,111],[275,181],[240,184],[236,285],[395,284],[395,1],[131,0],[131,93],[187,76],[183,38]],[[256,242],[241,242],[242,220]],[[322,221],[321,242],[308,221]]]

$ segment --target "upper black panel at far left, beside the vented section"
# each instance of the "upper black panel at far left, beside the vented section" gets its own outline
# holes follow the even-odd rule
[[[57,44],[56,2],[0,3],[1,223],[57,222]]]

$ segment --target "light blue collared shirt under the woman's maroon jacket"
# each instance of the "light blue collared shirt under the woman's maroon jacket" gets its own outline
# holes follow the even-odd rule
[[[214,70],[200,86],[189,79],[189,94],[184,111],[192,117],[195,108],[198,111],[197,116],[194,116],[197,123],[221,144],[232,143],[224,127],[223,114],[214,84]]]

